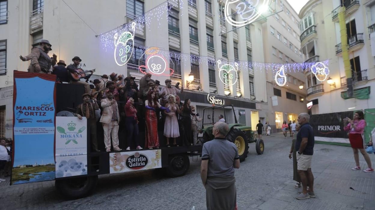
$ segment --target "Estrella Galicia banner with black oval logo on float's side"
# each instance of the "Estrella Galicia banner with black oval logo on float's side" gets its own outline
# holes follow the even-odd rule
[[[161,167],[161,150],[110,153],[110,174]]]

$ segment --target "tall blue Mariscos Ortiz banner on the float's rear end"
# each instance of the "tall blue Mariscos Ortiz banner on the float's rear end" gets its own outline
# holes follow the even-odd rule
[[[55,81],[14,71],[11,184],[55,179]]]

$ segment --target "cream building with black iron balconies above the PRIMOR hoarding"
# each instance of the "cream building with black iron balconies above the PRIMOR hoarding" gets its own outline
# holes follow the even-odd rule
[[[338,18],[341,6],[345,6],[342,26]],[[375,99],[370,92],[375,86],[375,44],[370,37],[375,36],[375,1],[310,0],[299,17],[304,59],[329,62],[329,75],[324,81],[318,80],[311,69],[305,71],[308,100],[313,102],[311,113],[374,108]],[[340,30],[347,35],[353,97],[347,95]]]

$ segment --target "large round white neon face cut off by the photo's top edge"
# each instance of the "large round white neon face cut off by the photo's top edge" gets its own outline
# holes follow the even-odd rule
[[[257,20],[262,12],[268,9],[270,0],[226,0],[224,7],[225,20],[232,26],[241,27]],[[231,8],[236,5],[239,20],[232,19]]]

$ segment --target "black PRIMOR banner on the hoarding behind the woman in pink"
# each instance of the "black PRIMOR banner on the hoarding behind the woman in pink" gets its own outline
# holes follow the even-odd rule
[[[348,132],[344,131],[344,119],[347,117],[353,119],[353,112],[311,115],[315,141],[349,144]]]

